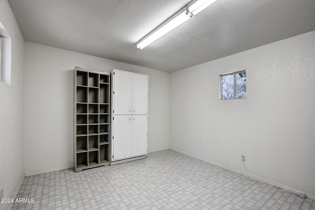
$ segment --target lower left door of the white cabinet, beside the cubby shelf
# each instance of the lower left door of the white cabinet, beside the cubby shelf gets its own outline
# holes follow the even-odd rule
[[[131,115],[115,115],[113,120],[113,160],[131,156]]]

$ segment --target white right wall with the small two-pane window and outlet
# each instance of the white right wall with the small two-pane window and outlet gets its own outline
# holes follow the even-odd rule
[[[218,100],[243,69],[247,98]],[[170,126],[170,149],[314,196],[315,31],[171,73]]]

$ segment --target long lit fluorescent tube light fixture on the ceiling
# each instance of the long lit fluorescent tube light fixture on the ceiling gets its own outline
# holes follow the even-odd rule
[[[166,20],[163,24],[158,26],[158,28],[143,37],[136,44],[137,48],[145,48],[161,36],[188,21],[193,15],[198,14],[200,11],[202,11],[215,1],[216,0],[192,0],[186,7],[182,8],[179,12],[177,12],[171,18]]]

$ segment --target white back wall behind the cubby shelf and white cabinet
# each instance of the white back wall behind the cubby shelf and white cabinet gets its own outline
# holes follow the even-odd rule
[[[73,69],[149,75],[148,150],[169,148],[169,73],[25,42],[25,174],[73,167]]]

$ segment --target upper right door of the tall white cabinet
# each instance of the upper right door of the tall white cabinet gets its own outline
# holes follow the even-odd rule
[[[148,76],[132,75],[132,114],[148,114]]]

